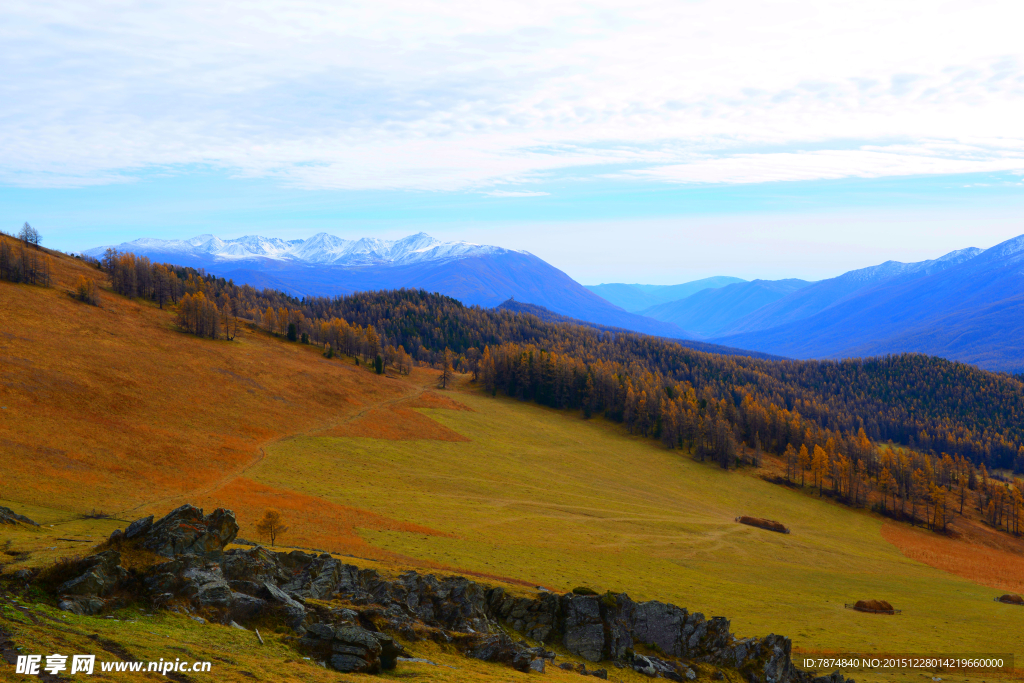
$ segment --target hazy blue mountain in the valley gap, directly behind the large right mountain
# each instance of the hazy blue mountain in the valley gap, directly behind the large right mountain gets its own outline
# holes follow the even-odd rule
[[[714,337],[736,321],[798,292],[811,283],[805,280],[755,280],[718,289],[706,289],[680,301],[645,308],[647,315],[685,327],[703,337]]]

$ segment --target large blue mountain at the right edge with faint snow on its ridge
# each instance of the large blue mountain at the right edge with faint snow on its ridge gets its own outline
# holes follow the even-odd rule
[[[863,272],[867,285],[824,306],[806,288],[743,322],[760,315],[781,325],[715,342],[798,358],[916,351],[986,370],[1024,370],[1024,236],[983,252],[967,249],[934,261],[876,267],[888,276],[877,279],[879,271],[867,268],[837,278],[849,282]],[[804,310],[818,310],[792,319],[798,307],[787,304],[800,297]]]

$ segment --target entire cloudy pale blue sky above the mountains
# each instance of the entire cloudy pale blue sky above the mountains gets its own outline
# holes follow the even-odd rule
[[[0,229],[427,231],[584,284],[1024,233],[1013,2],[6,0]]]

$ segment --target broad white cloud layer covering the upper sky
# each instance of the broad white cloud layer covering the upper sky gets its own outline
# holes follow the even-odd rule
[[[672,182],[1016,170],[1012,11],[8,0],[0,182],[188,164],[303,187],[478,191],[609,165]]]

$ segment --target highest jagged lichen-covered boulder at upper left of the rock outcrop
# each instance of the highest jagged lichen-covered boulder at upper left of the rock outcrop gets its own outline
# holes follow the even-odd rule
[[[145,526],[144,519],[132,522],[131,526],[139,522],[142,522],[140,527]],[[201,509],[182,505],[136,536],[141,537],[143,548],[164,557],[185,554],[219,557],[238,532],[239,525],[230,510],[218,508],[204,516]]]

